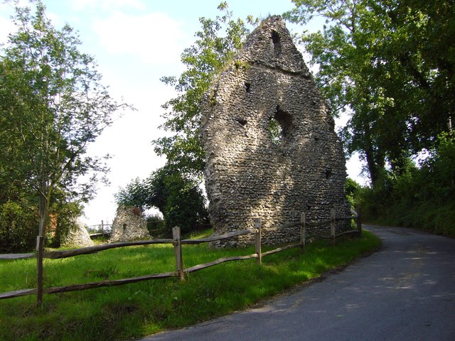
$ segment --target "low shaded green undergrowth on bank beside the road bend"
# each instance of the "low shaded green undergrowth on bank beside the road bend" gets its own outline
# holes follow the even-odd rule
[[[455,139],[441,134],[420,167],[357,192],[365,219],[455,237]]]

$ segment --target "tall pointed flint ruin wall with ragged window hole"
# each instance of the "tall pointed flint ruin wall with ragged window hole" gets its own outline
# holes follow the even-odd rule
[[[343,188],[346,161],[334,121],[279,16],[267,18],[203,99],[201,141],[205,188],[215,235],[294,224],[262,235],[264,244],[299,239],[308,220],[350,215]],[[274,119],[281,141],[272,141]],[[337,229],[344,229],[343,223]],[[308,230],[311,234],[314,230]],[[224,239],[214,247],[251,244],[254,236]]]

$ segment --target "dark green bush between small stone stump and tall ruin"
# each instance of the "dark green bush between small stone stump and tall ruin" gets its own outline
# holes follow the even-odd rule
[[[115,197],[119,205],[139,207],[142,211],[158,208],[168,231],[178,225],[182,232],[189,232],[208,220],[198,181],[170,165],[154,171],[146,180],[133,180]]]

